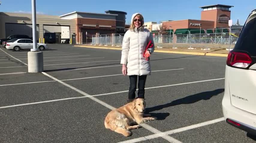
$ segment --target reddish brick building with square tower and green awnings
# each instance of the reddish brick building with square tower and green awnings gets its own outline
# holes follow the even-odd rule
[[[171,30],[174,34],[189,34],[189,31],[191,34],[204,33],[203,29],[211,29],[207,30],[207,33],[229,32],[228,29],[223,28],[229,28],[228,20],[230,20],[231,16],[231,7],[233,6],[222,4],[203,6],[200,7],[202,9],[201,20],[185,19],[163,21],[162,25],[165,26],[168,31]],[[151,32],[157,31],[152,30]]]

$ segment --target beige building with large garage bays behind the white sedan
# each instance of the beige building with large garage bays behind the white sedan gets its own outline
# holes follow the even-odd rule
[[[23,13],[0,12],[0,38],[7,38],[10,35],[32,36],[32,15]],[[37,15],[37,40],[44,41],[45,33],[56,33],[56,43],[65,39],[75,40],[76,43],[77,25],[76,20],[61,19],[53,15]]]

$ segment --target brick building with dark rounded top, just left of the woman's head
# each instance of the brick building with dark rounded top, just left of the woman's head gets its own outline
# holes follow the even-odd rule
[[[61,19],[76,21],[76,43],[92,42],[92,35],[124,33],[126,12],[107,10],[106,13],[72,12],[61,15]]]

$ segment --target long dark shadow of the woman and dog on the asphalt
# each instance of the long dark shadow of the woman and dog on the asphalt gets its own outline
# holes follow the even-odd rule
[[[150,112],[161,110],[163,108],[168,108],[168,107],[175,106],[175,105],[191,104],[191,103],[198,102],[200,100],[209,100],[213,96],[216,96],[222,92],[224,92],[223,88],[216,89],[213,91],[206,91],[206,92],[201,92],[198,94],[193,94],[193,95],[190,95],[190,96],[178,99],[178,100],[174,100],[167,104],[146,108],[145,112],[148,114],[151,114],[151,116],[157,117],[158,120],[164,120],[167,116],[170,115],[170,113],[150,113]]]

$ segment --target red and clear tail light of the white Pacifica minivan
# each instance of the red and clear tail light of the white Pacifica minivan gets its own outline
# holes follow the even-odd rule
[[[247,68],[252,63],[252,58],[242,52],[230,52],[227,58],[227,65],[238,68]]]

